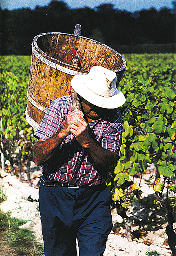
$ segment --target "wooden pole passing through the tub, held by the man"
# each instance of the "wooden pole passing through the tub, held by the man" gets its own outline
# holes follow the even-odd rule
[[[74,35],[75,36],[81,35],[81,25],[77,24],[75,26]],[[79,66],[79,58],[76,55],[72,57],[71,65],[76,67]],[[73,89],[71,90],[71,98],[72,98],[72,110],[75,110],[75,109],[81,110],[81,102],[77,96],[77,93]]]

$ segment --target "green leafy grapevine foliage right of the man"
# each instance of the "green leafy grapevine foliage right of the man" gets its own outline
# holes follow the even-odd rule
[[[170,177],[176,170],[176,55],[125,58],[127,69],[120,89],[127,102],[121,108],[125,124],[115,179],[121,184],[122,173],[142,173],[147,163]]]

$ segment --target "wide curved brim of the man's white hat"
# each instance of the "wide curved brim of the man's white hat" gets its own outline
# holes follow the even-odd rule
[[[122,106],[126,99],[121,91],[116,88],[115,94],[111,97],[103,97],[90,91],[85,85],[86,75],[75,75],[70,84],[72,88],[88,102],[104,109],[116,109]]]

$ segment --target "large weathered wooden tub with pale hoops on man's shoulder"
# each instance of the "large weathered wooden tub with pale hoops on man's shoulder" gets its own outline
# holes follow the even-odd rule
[[[71,65],[75,54],[81,67]],[[116,72],[118,87],[126,61],[114,49],[83,36],[58,32],[35,36],[27,93],[27,122],[37,129],[53,100],[68,95],[73,76],[86,75],[92,66],[103,66]]]

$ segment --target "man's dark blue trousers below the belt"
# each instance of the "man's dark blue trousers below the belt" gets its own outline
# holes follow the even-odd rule
[[[103,256],[112,229],[112,194],[103,186],[92,188],[39,188],[45,256]]]

